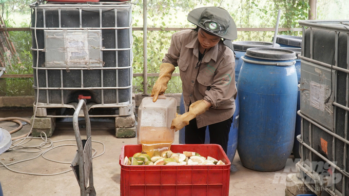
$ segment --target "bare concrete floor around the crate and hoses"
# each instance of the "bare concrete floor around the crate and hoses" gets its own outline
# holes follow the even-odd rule
[[[30,119],[32,110],[0,110],[2,117],[25,117]],[[83,125],[84,122],[79,122]],[[0,127],[12,130],[17,127],[13,122],[0,122]],[[91,122],[92,140],[103,142],[105,153],[93,159],[93,180],[97,195],[120,195],[120,165],[119,156],[121,147],[126,144],[137,144],[137,138],[118,139],[115,138],[114,124],[112,122]],[[25,125],[21,131],[13,136],[28,132],[29,125]],[[82,138],[86,139],[82,131]],[[178,132],[175,143],[178,144]],[[57,122],[52,141],[72,139],[75,140],[72,123]],[[41,140],[32,140],[26,145],[38,145]],[[58,142],[54,146],[62,144],[76,144],[76,142]],[[103,151],[103,146],[92,143],[97,150],[96,154]],[[46,149],[43,149],[45,151]],[[70,163],[75,156],[75,146],[55,148],[46,153],[47,158]],[[4,164],[32,158],[39,153],[5,152],[0,155],[0,161]],[[0,164],[1,165],[1,164]],[[283,170],[276,172],[259,172],[242,166],[238,153],[232,162],[233,169],[230,172],[229,195],[285,195],[286,175],[295,172],[295,163],[292,159],[287,161]],[[70,164],[60,164],[43,159],[41,156],[35,160],[18,163],[9,166],[13,170],[30,173],[59,173],[70,169]],[[38,176],[20,174],[0,167],[0,182],[4,195],[80,195],[80,188],[72,171],[54,175]]]

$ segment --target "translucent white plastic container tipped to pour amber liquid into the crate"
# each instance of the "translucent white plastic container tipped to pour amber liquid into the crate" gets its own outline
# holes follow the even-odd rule
[[[168,150],[175,141],[175,129],[171,122],[176,117],[177,101],[172,97],[159,97],[154,103],[152,97],[145,97],[138,108],[137,142],[149,155]]]

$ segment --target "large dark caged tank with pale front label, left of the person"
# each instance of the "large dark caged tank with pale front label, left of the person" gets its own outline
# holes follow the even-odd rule
[[[103,109],[104,104],[130,103],[131,4],[47,3],[31,8],[37,102],[70,107],[82,94],[91,96],[87,104]]]

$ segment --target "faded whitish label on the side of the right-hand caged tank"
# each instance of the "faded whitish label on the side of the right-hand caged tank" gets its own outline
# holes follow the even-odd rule
[[[325,95],[326,87],[325,85],[311,81],[310,83],[310,102],[311,106],[324,111],[325,109]]]

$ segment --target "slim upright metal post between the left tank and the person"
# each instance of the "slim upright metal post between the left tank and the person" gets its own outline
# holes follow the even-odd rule
[[[148,94],[147,0],[143,0],[143,94]]]

